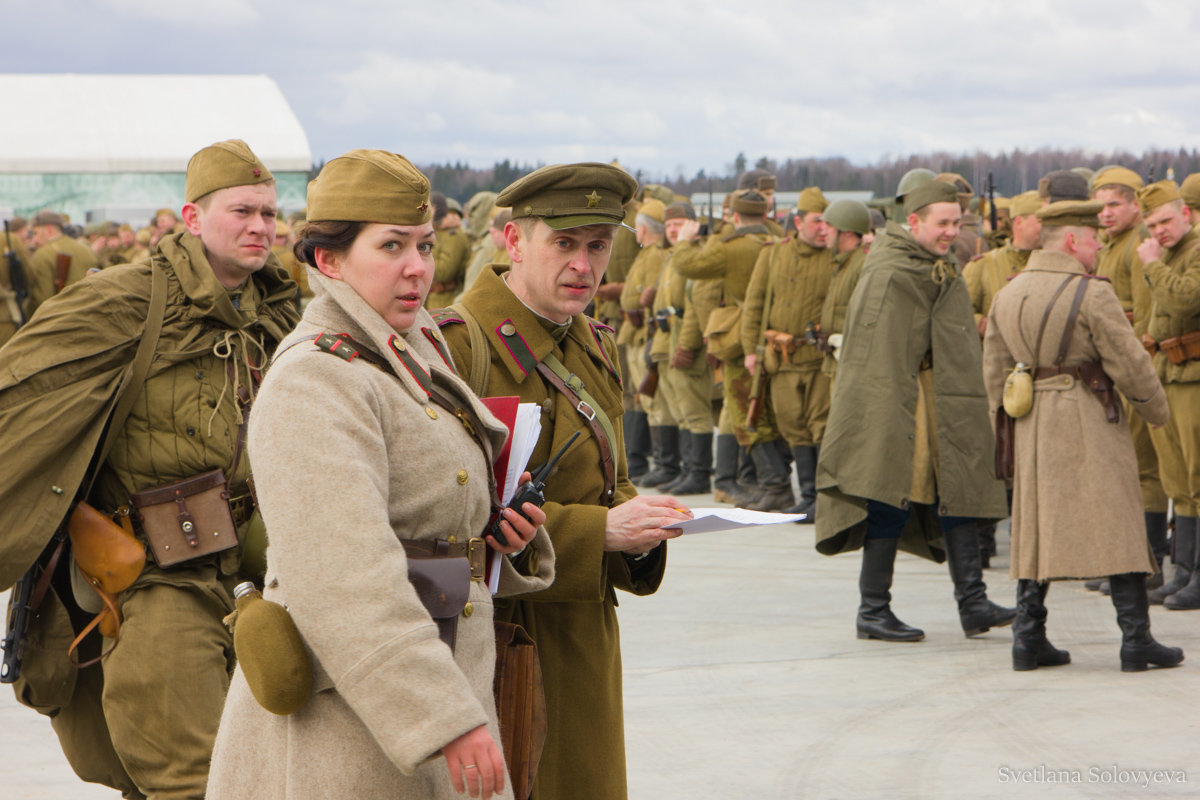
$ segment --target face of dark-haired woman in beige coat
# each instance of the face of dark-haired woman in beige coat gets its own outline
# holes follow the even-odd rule
[[[433,282],[433,223],[367,223],[350,249],[317,248],[317,267],[344,281],[391,327],[403,333],[416,319]]]

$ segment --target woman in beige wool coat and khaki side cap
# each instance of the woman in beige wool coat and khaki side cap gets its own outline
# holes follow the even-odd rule
[[[422,309],[433,277],[428,191],[407,160],[368,150],[329,162],[308,187],[296,251],[316,267],[317,297],[280,345],[248,446],[271,537],[264,596],[295,620],[313,696],[272,715],[239,670],[209,798],[512,796],[497,744],[487,587],[470,582],[451,652],[401,545],[480,535],[490,453],[506,435]],[[353,342],[330,345],[323,332]],[[545,519],[536,506],[526,512]],[[545,529],[505,511],[502,531],[506,546],[486,540],[502,559],[502,593],[546,588]]]

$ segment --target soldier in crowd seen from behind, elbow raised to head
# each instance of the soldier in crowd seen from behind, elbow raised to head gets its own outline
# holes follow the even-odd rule
[[[722,282],[720,306],[708,313],[703,329],[708,351],[721,360],[721,413],[728,415],[738,445],[748,447],[755,458],[760,486],[766,489],[760,500],[768,506],[763,510],[774,511],[786,509],[796,500],[787,465],[775,444],[779,434],[769,415],[764,411],[754,429],[746,427],[752,371],[744,363],[743,336],[746,287],[763,246],[773,241],[763,224],[767,198],[755,190],[745,190],[733,196],[730,207],[733,211],[731,230],[710,236],[703,246],[698,243],[700,224],[685,222],[679,229],[671,266],[690,281]]]

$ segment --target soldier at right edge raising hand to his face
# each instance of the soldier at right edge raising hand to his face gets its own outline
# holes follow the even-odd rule
[[[1138,201],[1150,231],[1136,249],[1151,293],[1142,341],[1171,409],[1170,421],[1150,432],[1175,504],[1176,571],[1160,595],[1168,608],[1192,609],[1200,608],[1200,234],[1175,181],[1142,187]]]

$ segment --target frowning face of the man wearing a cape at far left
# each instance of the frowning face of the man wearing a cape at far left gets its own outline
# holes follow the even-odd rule
[[[274,184],[217,190],[204,206],[184,207],[187,230],[203,242],[222,285],[239,287],[266,264],[275,241]]]

